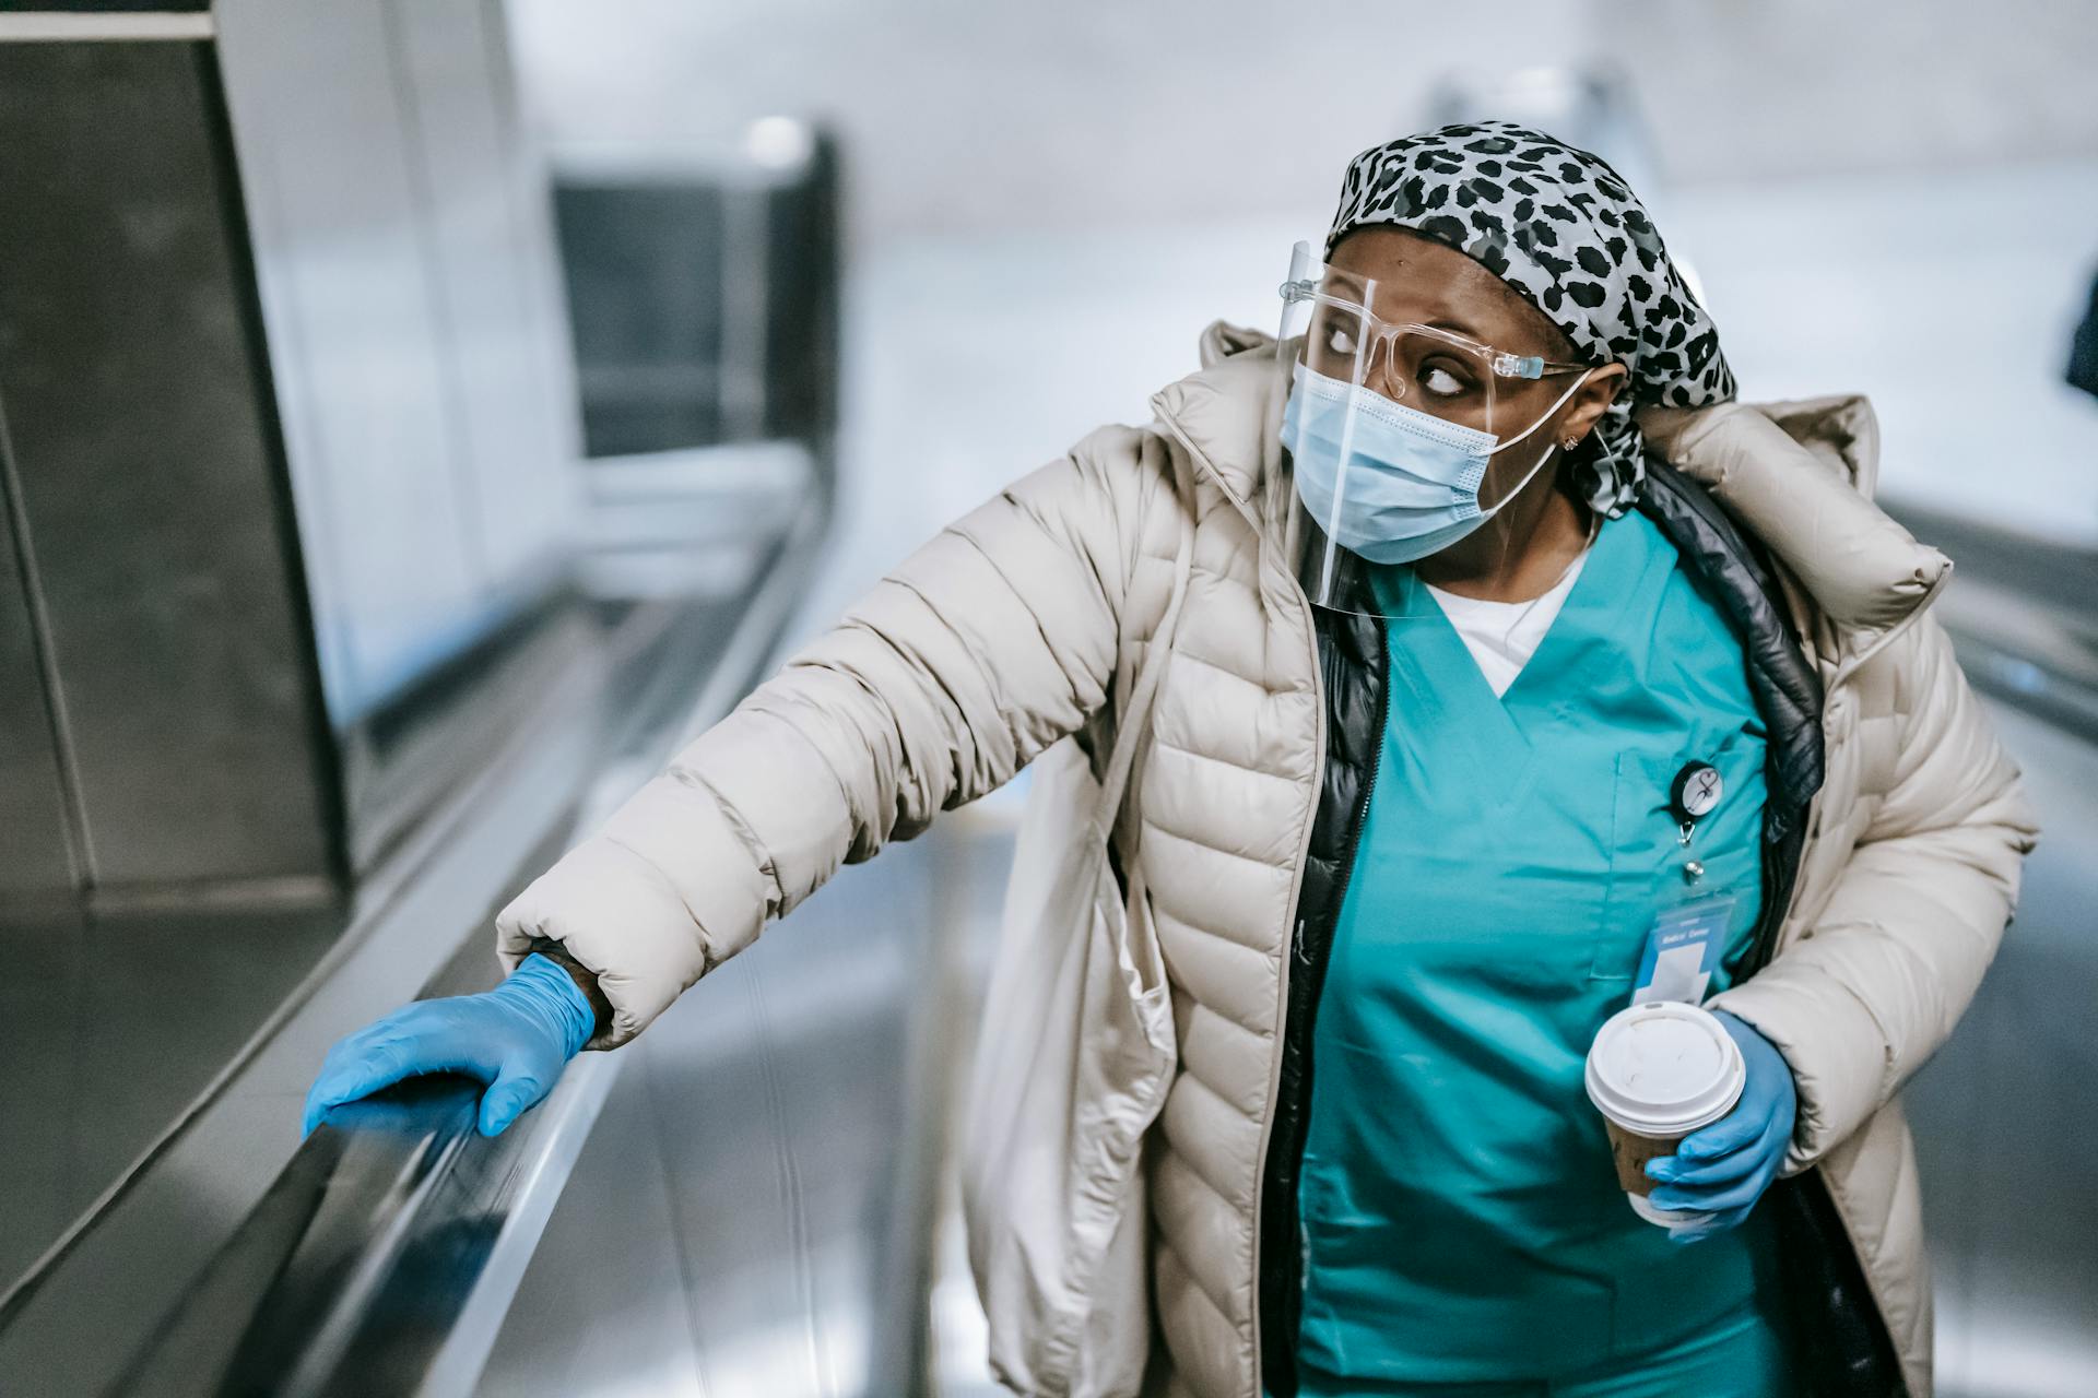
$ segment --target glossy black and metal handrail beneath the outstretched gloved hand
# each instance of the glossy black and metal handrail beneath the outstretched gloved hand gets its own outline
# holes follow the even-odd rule
[[[533,868],[747,690],[801,591],[822,509],[812,497],[780,543],[697,702],[640,723]],[[491,981],[476,929],[422,998]],[[478,1086],[455,1075],[336,1109],[107,1392],[470,1392],[621,1063],[583,1054],[493,1140],[474,1130]]]

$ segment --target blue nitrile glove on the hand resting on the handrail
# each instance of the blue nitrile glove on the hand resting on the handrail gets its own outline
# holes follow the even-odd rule
[[[554,1090],[594,1023],[590,1000],[569,973],[543,956],[527,956],[491,991],[418,1000],[340,1040],[306,1092],[306,1132],[331,1107],[403,1077],[466,1073],[493,1084],[480,1094],[480,1134],[499,1136]]]

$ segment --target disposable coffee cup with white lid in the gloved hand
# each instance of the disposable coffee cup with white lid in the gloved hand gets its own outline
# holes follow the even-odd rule
[[[1632,1211],[1676,1224],[1680,1209],[1647,1201],[1647,1161],[1674,1155],[1676,1142],[1712,1126],[1741,1100],[1748,1065],[1741,1048],[1706,1010],[1655,1000],[1611,1014],[1588,1046],[1588,1100],[1603,1113],[1618,1184]]]

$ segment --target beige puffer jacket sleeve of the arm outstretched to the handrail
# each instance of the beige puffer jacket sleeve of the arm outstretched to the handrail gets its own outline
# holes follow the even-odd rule
[[[527,887],[504,962],[560,941],[611,1002],[592,1046],[631,1040],[839,864],[1076,731],[1177,511],[1158,438],[1104,428],[950,524]]]

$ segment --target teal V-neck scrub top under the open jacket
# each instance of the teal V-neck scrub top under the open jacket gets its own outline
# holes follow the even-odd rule
[[[1500,698],[1412,570],[1380,585],[1404,620],[1313,1027],[1303,1392],[1571,1377],[1735,1323],[1769,1299],[1758,1216],[1678,1245],[1632,1214],[1582,1065],[1657,912],[1735,895],[1712,991],[1750,949],[1741,646],[1639,514],[1603,524]],[[1699,759],[1725,792],[1685,849],[1670,782]]]

